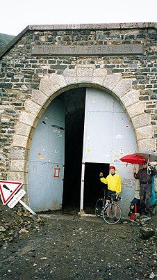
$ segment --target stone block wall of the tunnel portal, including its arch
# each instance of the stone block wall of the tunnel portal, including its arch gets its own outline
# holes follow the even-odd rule
[[[9,178],[27,184],[33,128],[56,95],[76,86],[95,86],[115,95],[133,123],[140,150],[156,150],[156,42],[155,23],[28,26],[24,29],[0,53],[1,180]],[[126,44],[143,44],[143,54],[31,54],[35,45]]]

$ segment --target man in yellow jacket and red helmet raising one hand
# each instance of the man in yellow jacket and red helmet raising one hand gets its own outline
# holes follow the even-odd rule
[[[108,185],[108,190],[107,190],[107,194],[106,194],[106,203],[110,202],[110,196],[111,194],[116,194],[116,198],[114,199],[114,203],[117,203],[117,196],[119,195],[119,193],[121,192],[121,178],[120,176],[115,173],[115,166],[110,166],[110,174],[104,178],[103,177],[103,173],[100,173],[100,180],[101,182],[104,182],[104,184]],[[110,215],[110,208],[107,209],[107,213],[106,213],[106,218],[109,219],[109,215]],[[117,219],[117,207],[115,208],[115,221]]]

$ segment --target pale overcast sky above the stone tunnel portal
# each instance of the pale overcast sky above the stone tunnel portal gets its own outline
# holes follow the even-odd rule
[[[157,0],[1,1],[0,33],[17,36],[32,24],[157,22]]]

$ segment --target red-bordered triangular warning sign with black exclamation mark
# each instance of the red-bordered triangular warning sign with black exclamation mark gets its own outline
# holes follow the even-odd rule
[[[10,181],[1,181],[0,180],[0,194],[1,200],[4,205],[12,199],[15,193],[20,187],[22,187],[23,182],[10,182]]]

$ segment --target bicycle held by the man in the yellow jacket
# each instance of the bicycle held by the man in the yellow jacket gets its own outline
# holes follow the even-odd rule
[[[114,199],[116,198],[116,194],[111,194],[110,203],[106,203],[106,189],[104,189],[104,198],[98,199],[95,205],[95,215],[97,217],[103,217],[104,221],[107,224],[117,224],[122,218],[122,209],[116,203],[114,203]],[[122,201],[122,198],[118,196],[117,201]],[[109,208],[109,210],[108,210]],[[109,217],[106,215],[106,212],[109,212]],[[117,212],[115,218],[115,212]]]

